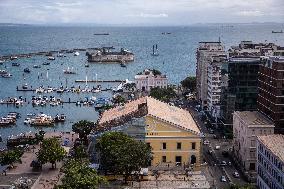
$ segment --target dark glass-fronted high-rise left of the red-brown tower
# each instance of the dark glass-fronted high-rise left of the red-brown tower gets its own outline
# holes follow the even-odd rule
[[[258,70],[260,58],[230,58],[223,66],[221,117],[232,123],[234,111],[257,110]],[[225,83],[225,81],[224,81]]]

